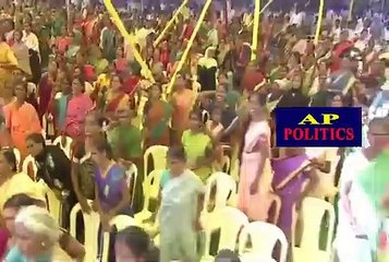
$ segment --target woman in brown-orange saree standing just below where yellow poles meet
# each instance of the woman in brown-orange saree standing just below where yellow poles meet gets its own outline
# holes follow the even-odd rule
[[[149,87],[148,100],[144,109],[145,148],[151,145],[169,145],[169,121],[171,106],[161,98],[161,86],[154,84]]]

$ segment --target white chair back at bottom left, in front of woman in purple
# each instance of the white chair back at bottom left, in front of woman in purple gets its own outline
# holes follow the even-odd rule
[[[88,201],[88,203],[92,205],[92,201]],[[77,214],[82,212],[81,205],[77,203],[74,205],[70,213],[70,234],[72,237],[76,237],[76,217]],[[84,247],[85,247],[85,257],[84,261],[96,261],[97,254],[98,254],[98,241],[99,235],[98,235],[98,229],[100,226],[100,216],[96,212],[90,212],[89,214],[83,214],[84,218],[84,235],[85,235],[85,241],[84,241]]]

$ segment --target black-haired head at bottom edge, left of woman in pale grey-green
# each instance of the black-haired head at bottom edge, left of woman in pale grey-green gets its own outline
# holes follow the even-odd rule
[[[146,257],[151,246],[150,237],[137,226],[130,226],[119,231],[117,240],[123,241],[137,258]]]

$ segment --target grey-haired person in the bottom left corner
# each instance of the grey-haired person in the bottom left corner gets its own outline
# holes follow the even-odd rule
[[[46,209],[31,205],[21,210],[15,218],[14,233],[16,245],[7,254],[5,262],[72,261],[60,248],[61,229]]]

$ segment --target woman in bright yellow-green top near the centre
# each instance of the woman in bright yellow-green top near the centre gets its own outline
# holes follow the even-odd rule
[[[208,134],[199,111],[191,112],[190,129],[183,132],[181,143],[185,148],[190,168],[206,181],[214,163],[214,140],[212,135]]]

